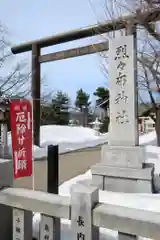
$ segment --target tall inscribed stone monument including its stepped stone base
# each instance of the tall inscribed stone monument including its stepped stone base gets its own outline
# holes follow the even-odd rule
[[[101,189],[127,193],[153,192],[154,166],[145,163],[137,121],[137,59],[133,35],[109,42],[110,127],[101,162],[92,166],[92,181]]]

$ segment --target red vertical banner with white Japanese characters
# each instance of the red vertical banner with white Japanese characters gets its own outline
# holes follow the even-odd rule
[[[32,105],[28,100],[10,103],[14,179],[32,175]]]

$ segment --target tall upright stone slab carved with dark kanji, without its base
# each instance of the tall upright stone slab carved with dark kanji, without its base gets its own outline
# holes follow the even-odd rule
[[[109,44],[110,145],[134,146],[136,142],[134,50],[132,35],[112,39]]]

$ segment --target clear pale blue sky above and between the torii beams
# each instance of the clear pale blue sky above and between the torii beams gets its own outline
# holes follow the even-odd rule
[[[101,0],[92,2],[97,14],[101,15]],[[0,20],[8,28],[14,44],[96,23],[88,0],[1,0]],[[99,40],[99,37],[95,40]],[[93,39],[70,42],[46,48],[43,53],[92,42]],[[18,58],[21,57],[30,61],[30,54],[19,54]],[[107,84],[101,71],[101,59],[95,54],[45,63],[41,69],[42,75],[45,75],[46,90],[61,89],[72,99],[80,87],[92,94],[96,87]]]

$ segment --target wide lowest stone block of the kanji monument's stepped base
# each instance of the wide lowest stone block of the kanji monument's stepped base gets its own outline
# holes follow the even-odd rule
[[[98,163],[91,168],[92,182],[102,190],[124,193],[152,193],[153,164],[144,168],[111,167]]]

